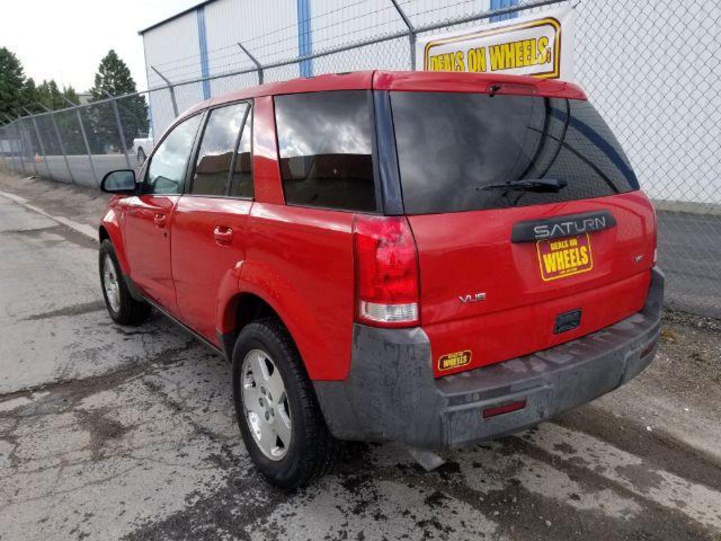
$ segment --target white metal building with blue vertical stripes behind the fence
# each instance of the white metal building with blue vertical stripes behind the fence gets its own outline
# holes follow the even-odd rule
[[[419,27],[518,1],[399,4]],[[721,4],[603,0],[580,2],[577,9],[575,78],[619,136],[644,188],[657,201],[703,203],[705,211],[716,212],[721,203],[721,133],[712,111],[721,106],[721,76],[709,66],[717,55],[713,44],[721,39]],[[392,0],[205,0],[140,33],[152,89],[164,86],[166,79],[185,82],[252,69],[238,43],[268,65],[404,30]],[[407,40],[399,39],[264,74],[269,82],[409,65]],[[177,109],[251,84],[257,84],[255,73],[176,87]],[[169,93],[152,92],[150,102],[154,133],[160,134],[174,118]]]

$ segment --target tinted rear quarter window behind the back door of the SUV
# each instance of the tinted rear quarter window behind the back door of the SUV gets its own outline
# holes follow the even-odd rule
[[[375,211],[370,92],[275,98],[278,153],[288,203]]]

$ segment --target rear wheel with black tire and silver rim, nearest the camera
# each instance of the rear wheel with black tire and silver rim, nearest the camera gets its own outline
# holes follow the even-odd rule
[[[270,483],[298,488],[332,467],[340,442],[329,433],[301,356],[278,320],[249,323],[240,333],[233,398],[248,454]]]

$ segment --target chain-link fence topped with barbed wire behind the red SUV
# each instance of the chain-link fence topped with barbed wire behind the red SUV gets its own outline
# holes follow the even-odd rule
[[[5,167],[97,186],[110,170],[138,168],[153,135],[204,95],[291,79],[308,61],[314,74],[414,69],[416,38],[570,5],[519,0],[478,12],[477,0],[318,1],[327,9],[311,19],[311,55],[298,57],[298,36],[280,27],[211,51],[215,74],[205,79],[200,58],[178,58],[149,66],[149,92],[0,119]],[[655,203],[667,303],[721,317],[721,4],[585,0],[575,7],[575,76]]]

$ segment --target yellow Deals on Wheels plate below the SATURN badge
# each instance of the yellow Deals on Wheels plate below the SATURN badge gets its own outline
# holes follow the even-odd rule
[[[536,250],[544,281],[587,273],[593,268],[588,233],[565,239],[539,240]]]

